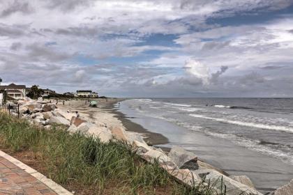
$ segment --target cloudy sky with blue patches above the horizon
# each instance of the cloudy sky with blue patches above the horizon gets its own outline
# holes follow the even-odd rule
[[[2,84],[293,97],[293,0],[0,0]]]

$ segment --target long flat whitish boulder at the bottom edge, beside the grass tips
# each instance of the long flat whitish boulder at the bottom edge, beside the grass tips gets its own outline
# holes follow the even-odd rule
[[[227,195],[262,195],[253,187],[249,187],[241,182],[232,180],[232,178],[224,176],[218,171],[212,169],[197,169],[192,172],[194,175],[202,178],[203,182],[210,182],[211,185],[218,190],[223,189],[223,186],[225,185]]]

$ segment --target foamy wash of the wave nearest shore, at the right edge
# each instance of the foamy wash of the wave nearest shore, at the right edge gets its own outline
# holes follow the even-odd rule
[[[233,143],[236,143],[239,146],[243,146],[244,148],[248,148],[249,150],[254,150],[259,153],[262,153],[264,155],[268,155],[271,157],[275,157],[277,159],[282,160],[283,162],[286,162],[288,164],[293,164],[293,154],[292,153],[285,153],[283,150],[279,150],[277,148],[273,148],[271,146],[268,146],[266,144],[263,144],[263,141],[260,140],[253,140],[253,139],[246,139],[243,137],[237,137],[234,134],[222,134],[218,132],[206,132],[206,134],[210,134],[213,137],[220,137],[223,139],[228,139],[232,141]],[[280,147],[286,147],[280,144],[271,144],[273,146],[280,146]],[[288,150],[290,151],[290,150]]]

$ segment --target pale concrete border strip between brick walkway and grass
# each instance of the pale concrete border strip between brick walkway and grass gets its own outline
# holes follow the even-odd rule
[[[56,192],[59,195],[73,195],[71,192],[69,192],[67,189],[63,188],[61,185],[57,184],[53,180],[47,178],[42,173],[39,173],[35,169],[32,169],[31,167],[27,166],[27,164],[24,164],[20,162],[18,159],[15,159],[14,157],[11,157],[10,155],[4,153],[2,150],[0,150],[0,156],[7,159],[11,163],[15,164],[16,166],[20,167],[20,169],[23,169],[27,173],[31,174],[31,176],[35,177],[36,179],[40,180],[40,182],[43,182],[43,184],[47,185],[47,187],[50,187],[54,192]]]

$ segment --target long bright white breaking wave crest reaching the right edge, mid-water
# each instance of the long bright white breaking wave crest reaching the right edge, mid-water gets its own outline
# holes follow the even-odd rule
[[[249,122],[243,122],[243,121],[238,121],[238,120],[227,120],[225,118],[213,118],[213,117],[204,116],[204,115],[200,115],[200,114],[189,114],[189,116],[193,116],[196,118],[204,118],[204,119],[209,119],[209,120],[216,120],[216,121],[222,122],[222,123],[230,123],[230,124],[241,125],[241,126],[246,126],[246,127],[255,127],[255,128],[259,128],[259,129],[265,129],[265,130],[278,130],[278,131],[293,133],[292,127],[286,127],[286,126],[281,126],[281,125],[264,125],[264,124],[260,124],[260,123],[249,123]]]

